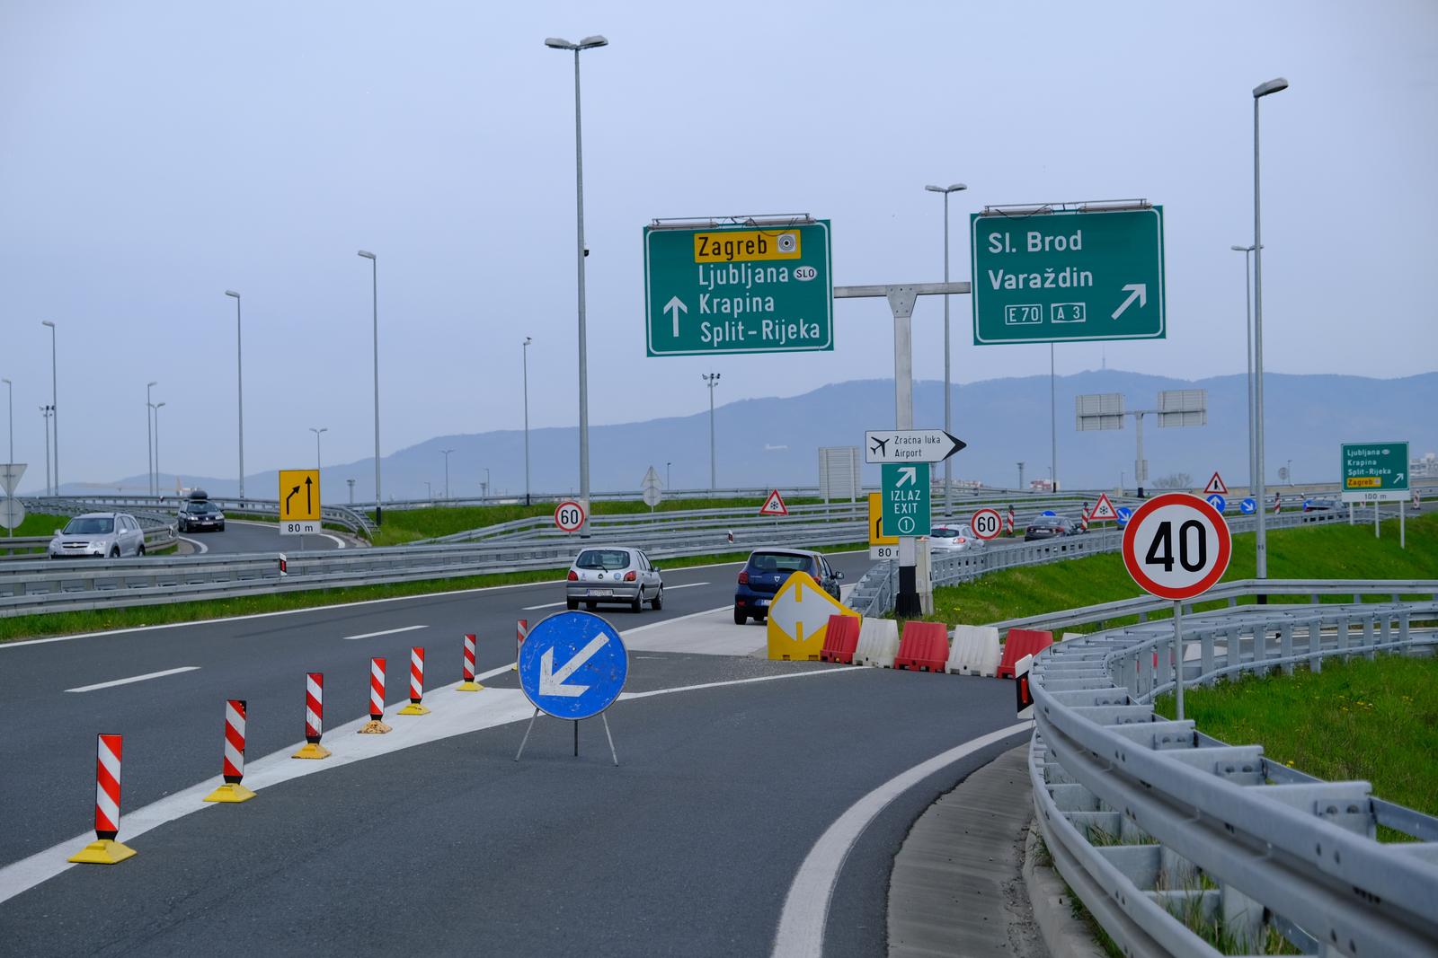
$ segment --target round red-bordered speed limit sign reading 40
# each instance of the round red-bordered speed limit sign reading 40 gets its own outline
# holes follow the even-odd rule
[[[1123,530],[1123,564],[1145,592],[1192,599],[1224,577],[1232,539],[1222,513],[1188,493],[1155,496]]]

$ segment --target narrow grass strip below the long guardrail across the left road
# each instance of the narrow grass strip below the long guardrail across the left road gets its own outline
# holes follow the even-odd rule
[[[853,552],[866,549],[863,544],[821,546],[817,552]],[[660,569],[686,569],[715,563],[743,562],[749,552],[731,552],[715,556],[686,556],[663,559]],[[558,589],[568,564],[559,569],[532,569],[487,576],[463,576],[460,579],[430,579],[426,582],[397,582],[351,589],[316,589],[312,592],[285,592],[278,595],[239,596],[211,602],[175,602],[170,605],[132,606],[127,609],[86,609],[82,612],[50,612],[46,615],[20,615],[0,619],[0,642],[30,639],[46,635],[78,635],[83,632],[105,632],[108,629],[134,629],[171,622],[203,622],[236,615],[262,612],[288,612],[290,609],[312,609],[315,606],[341,605],[345,602],[368,602],[398,596],[420,596],[460,589],[482,589],[486,586],[508,586],[531,582],[552,582]],[[557,593],[558,595],[558,593]],[[561,596],[562,597],[562,596]]]

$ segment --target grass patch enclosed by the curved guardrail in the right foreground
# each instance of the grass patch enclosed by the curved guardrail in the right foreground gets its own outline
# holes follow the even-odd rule
[[[1173,697],[1155,708],[1172,718]],[[1438,658],[1329,658],[1322,672],[1248,675],[1185,689],[1183,712],[1208,735],[1263,743],[1310,776],[1369,781],[1380,799],[1438,814]]]

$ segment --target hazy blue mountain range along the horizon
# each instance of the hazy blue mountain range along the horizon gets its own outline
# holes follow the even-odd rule
[[[1058,477],[1068,488],[1112,488],[1122,478],[1133,485],[1133,418],[1122,431],[1078,432],[1074,398],[1081,394],[1119,392],[1127,409],[1153,409],[1162,389],[1206,389],[1208,425],[1160,429],[1156,417],[1145,417],[1143,445],[1153,480],[1188,473],[1202,483],[1215,470],[1229,484],[1245,484],[1247,386],[1242,375],[1185,381],[1113,369],[1058,376],[1055,409]],[[1291,461],[1297,481],[1337,478],[1339,442],[1408,440],[1415,457],[1438,450],[1438,373],[1403,379],[1366,379],[1336,375],[1281,375],[1265,378],[1267,478]],[[933,381],[916,382],[915,422],[943,425],[943,389]],[[661,404],[656,404],[659,406]],[[860,445],[864,429],[892,428],[892,381],[843,382],[787,399],[741,399],[715,411],[719,487],[815,485],[818,448]],[[952,431],[968,442],[953,460],[955,478],[988,485],[1018,484],[1018,462],[1025,462],[1025,483],[1047,478],[1050,465],[1050,382],[1047,376],[989,379],[953,388]],[[532,490],[572,493],[578,483],[578,429],[531,429]],[[444,494],[444,457],[450,454],[450,493],[480,494],[486,468],[492,494],[523,496],[523,432],[518,429],[475,435],[441,435],[384,457],[384,494],[390,498],[423,498],[429,481],[433,496]],[[653,465],[676,490],[709,487],[709,414],[657,418],[590,428],[591,488],[638,493]],[[290,464],[303,468],[305,462]],[[324,498],[345,503],[345,480],[355,480],[355,501],[374,498],[374,460],[326,465]],[[879,467],[864,467],[866,483],[879,481]],[[200,485],[216,496],[234,496],[233,478],[183,475],[184,485]],[[276,496],[276,474],[246,477],[246,491],[256,498]],[[145,477],[128,477],[116,487],[144,487]],[[174,488],[170,474],[164,488]],[[65,493],[95,493],[95,485],[66,485]]]

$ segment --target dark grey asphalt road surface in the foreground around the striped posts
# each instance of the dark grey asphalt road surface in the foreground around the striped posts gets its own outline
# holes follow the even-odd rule
[[[863,554],[833,562],[850,582],[867,566]],[[789,883],[825,829],[896,774],[1011,725],[1012,691],[660,651],[666,636],[682,646],[700,623],[722,625],[703,613],[732,600],[736,569],[667,572],[659,613],[601,606],[620,631],[651,626],[631,642],[643,649],[607,712],[618,767],[597,720],[581,725],[578,758],[572,727],[541,718],[513,761],[529,715],[503,668],[513,623],[562,609],[559,583],[0,648],[0,866],[76,850],[68,843],[93,813],[98,731],[125,735],[124,813],[137,820],[209,783],[171,800],[203,814],[129,839],[139,855],[118,866],[70,868],[19,893],[14,869],[0,868],[0,898],[14,895],[0,903],[0,941],[36,955],[216,942],[275,954],[769,954]],[[762,643],[762,626],[726,628]],[[502,669],[485,692],[437,688],[459,678],[463,632],[480,636],[480,671]],[[403,701],[411,645],[429,649],[433,715],[388,720],[385,737],[338,730],[365,711],[371,655],[388,658],[388,701]],[[65,691],[181,666],[198,668]],[[299,741],[303,672],[319,669],[335,764],[256,761]],[[263,787],[253,801],[209,806],[198,796],[217,783],[227,697],[249,699],[247,781]],[[444,722],[443,737],[403,747],[413,728]],[[352,761],[345,751],[380,747],[395,750]],[[910,822],[1002,747],[929,776],[863,832],[834,886],[825,955],[883,951],[889,869]],[[315,774],[280,780],[299,767]]]

